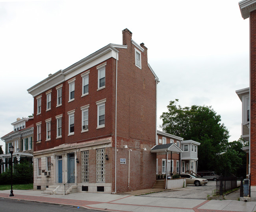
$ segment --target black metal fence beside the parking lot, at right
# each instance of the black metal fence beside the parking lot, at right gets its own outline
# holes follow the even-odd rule
[[[223,195],[234,188],[237,188],[237,177],[220,177],[216,181],[216,195]]]

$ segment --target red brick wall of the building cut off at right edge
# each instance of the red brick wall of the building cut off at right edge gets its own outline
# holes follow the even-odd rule
[[[256,11],[250,13],[250,171],[256,186]]]

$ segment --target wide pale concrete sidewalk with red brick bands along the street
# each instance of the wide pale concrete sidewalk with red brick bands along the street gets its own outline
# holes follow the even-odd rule
[[[137,191],[137,193],[141,192]],[[72,205],[104,211],[254,212],[256,210],[256,202],[235,200],[180,199],[99,193],[75,193],[61,196],[42,194],[42,191],[37,190],[13,190],[14,197],[9,197],[9,194],[10,190],[0,191],[0,198]]]

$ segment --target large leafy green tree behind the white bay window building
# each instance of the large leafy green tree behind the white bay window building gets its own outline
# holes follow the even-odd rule
[[[198,170],[217,170],[221,153],[228,145],[229,132],[221,124],[221,116],[211,106],[182,108],[178,99],[170,101],[168,111],[162,113],[161,128],[164,132],[200,142],[198,146]]]

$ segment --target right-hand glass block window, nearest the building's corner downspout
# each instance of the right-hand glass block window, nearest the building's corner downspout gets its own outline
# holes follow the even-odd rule
[[[105,148],[96,151],[96,182],[105,183],[106,160]]]

